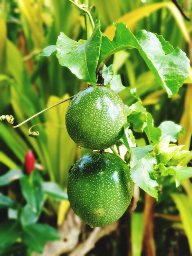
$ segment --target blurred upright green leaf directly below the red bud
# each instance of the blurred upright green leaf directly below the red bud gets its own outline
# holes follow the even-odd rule
[[[25,175],[20,179],[22,194],[29,204],[33,213],[40,214],[44,199],[42,184],[39,181],[37,171],[32,173],[32,176]]]

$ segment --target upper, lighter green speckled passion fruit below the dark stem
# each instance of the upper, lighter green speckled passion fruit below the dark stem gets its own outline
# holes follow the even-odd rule
[[[127,121],[121,98],[105,86],[90,86],[71,100],[65,116],[67,131],[76,144],[103,150],[117,143]]]

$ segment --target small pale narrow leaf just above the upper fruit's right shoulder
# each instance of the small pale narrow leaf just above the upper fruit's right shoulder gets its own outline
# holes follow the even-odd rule
[[[133,96],[137,101],[141,101],[141,99],[138,97],[138,95],[136,94],[136,88],[133,89],[129,89],[127,87],[125,87],[122,82],[121,82],[121,76],[120,75],[116,75],[114,76],[114,78],[112,79],[111,83],[110,83],[110,88],[112,90],[114,90],[116,93],[119,93],[123,90],[125,90],[126,92],[128,92],[131,96]]]

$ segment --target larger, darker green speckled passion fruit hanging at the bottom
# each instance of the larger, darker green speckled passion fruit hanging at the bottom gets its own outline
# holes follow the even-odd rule
[[[91,227],[118,220],[133,194],[130,170],[111,153],[84,155],[69,171],[67,194],[73,211]]]

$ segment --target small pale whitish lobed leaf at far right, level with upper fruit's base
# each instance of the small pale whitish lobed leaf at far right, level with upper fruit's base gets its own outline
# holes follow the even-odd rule
[[[184,130],[179,124],[175,124],[172,121],[165,121],[160,124],[159,128],[161,129],[162,135],[161,139],[164,139],[167,136],[170,136],[170,141],[176,142],[179,136],[179,133],[184,135]]]

